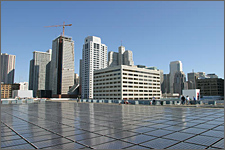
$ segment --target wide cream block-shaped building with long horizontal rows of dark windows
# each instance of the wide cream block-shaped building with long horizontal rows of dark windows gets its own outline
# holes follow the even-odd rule
[[[120,65],[94,71],[94,99],[160,99],[160,71]]]

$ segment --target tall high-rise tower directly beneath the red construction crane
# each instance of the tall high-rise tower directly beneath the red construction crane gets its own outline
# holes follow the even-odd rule
[[[68,94],[74,85],[74,41],[59,36],[52,41],[51,90],[53,95]]]

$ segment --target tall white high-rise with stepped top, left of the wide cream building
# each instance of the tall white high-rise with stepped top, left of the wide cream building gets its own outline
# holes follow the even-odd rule
[[[96,36],[85,38],[81,64],[81,97],[92,99],[94,70],[107,67],[107,46],[101,43],[101,38]]]

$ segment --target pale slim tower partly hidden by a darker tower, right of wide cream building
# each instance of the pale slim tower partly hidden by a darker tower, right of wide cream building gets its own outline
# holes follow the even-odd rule
[[[170,62],[170,93],[174,93],[173,83],[174,76],[176,72],[183,71],[181,61],[172,61]]]

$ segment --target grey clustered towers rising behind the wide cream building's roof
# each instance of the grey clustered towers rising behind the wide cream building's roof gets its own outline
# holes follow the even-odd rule
[[[118,53],[112,51],[108,53],[108,66],[109,67],[114,67],[117,65],[134,66],[132,51],[125,50],[124,46],[120,46],[118,50],[119,50]]]

